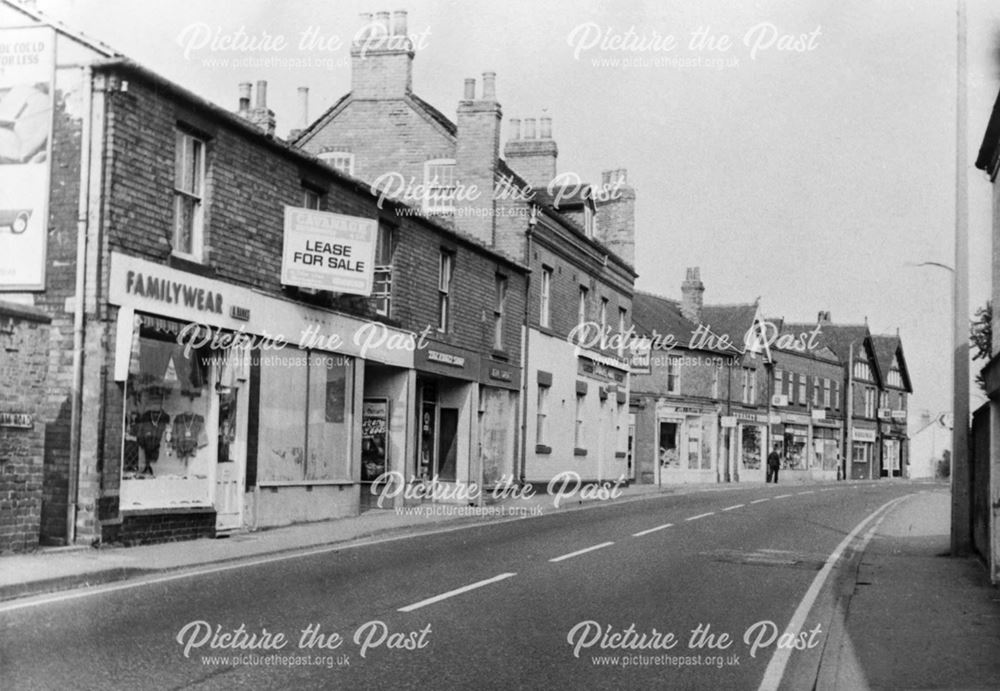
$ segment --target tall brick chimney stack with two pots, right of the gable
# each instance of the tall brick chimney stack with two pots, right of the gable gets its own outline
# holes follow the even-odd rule
[[[469,98],[470,95],[472,98]],[[455,182],[465,192],[465,198],[456,200],[455,205],[456,209],[461,206],[469,211],[456,213],[455,225],[488,246],[493,246],[496,226],[494,186],[500,160],[502,117],[503,112],[496,99],[496,74],[483,73],[482,97],[478,100],[475,98],[475,80],[466,79],[465,98],[458,103],[455,144]]]

